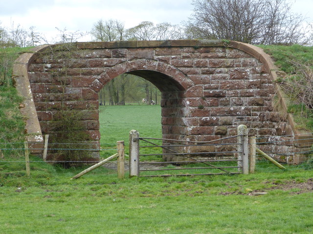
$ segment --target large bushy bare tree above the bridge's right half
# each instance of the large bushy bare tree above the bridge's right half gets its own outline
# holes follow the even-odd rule
[[[305,42],[303,17],[291,14],[287,0],[193,0],[185,22],[187,38],[230,39],[246,43]]]

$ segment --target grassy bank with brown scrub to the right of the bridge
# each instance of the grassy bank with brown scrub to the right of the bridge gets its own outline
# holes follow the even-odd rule
[[[313,46],[260,46],[287,75],[278,82],[291,98],[288,112],[294,115],[298,128],[313,132]],[[295,85],[296,84],[296,85]],[[307,105],[304,103],[307,102]]]

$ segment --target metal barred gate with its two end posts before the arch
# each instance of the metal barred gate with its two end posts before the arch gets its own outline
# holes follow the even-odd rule
[[[155,152],[144,153],[151,149]],[[157,152],[156,149],[160,150]],[[246,174],[247,156],[245,131],[244,134],[211,141],[139,137],[135,130],[130,133],[130,176]],[[158,160],[151,160],[153,157],[158,157]],[[160,157],[167,160],[160,161]],[[171,158],[175,160],[168,160]]]

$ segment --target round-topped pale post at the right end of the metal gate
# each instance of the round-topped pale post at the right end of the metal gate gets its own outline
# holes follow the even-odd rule
[[[248,130],[246,125],[239,125],[238,135],[238,166],[242,167],[243,174],[249,174],[249,150],[248,150]]]

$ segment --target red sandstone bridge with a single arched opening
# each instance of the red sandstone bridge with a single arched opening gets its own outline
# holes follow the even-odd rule
[[[79,121],[89,139],[98,143],[98,92],[123,73],[145,78],[161,91],[163,138],[208,141],[236,135],[240,124],[247,125],[249,136],[299,133],[290,115],[273,108],[277,94],[279,106],[286,110],[274,82],[277,69],[262,49],[249,44],[77,42],[31,50],[14,65],[17,89],[25,98],[20,107],[30,142],[42,141],[43,134],[57,136],[53,119],[66,107],[85,111]],[[292,150],[284,144],[270,147],[276,152]]]

